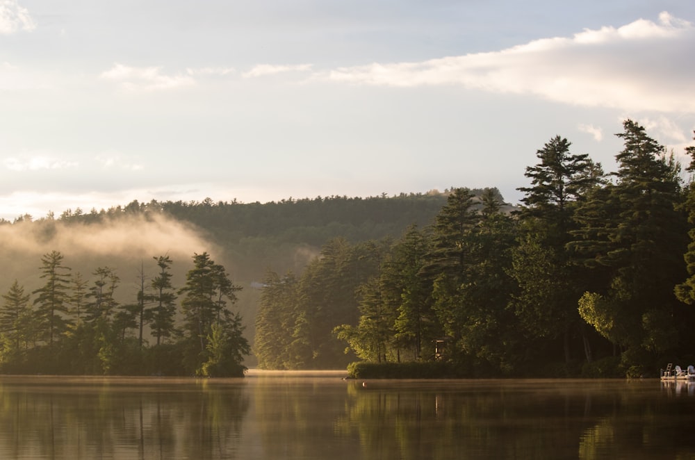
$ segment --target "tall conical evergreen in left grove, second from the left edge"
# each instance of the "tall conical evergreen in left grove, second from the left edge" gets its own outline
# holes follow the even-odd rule
[[[37,295],[34,305],[43,339],[52,347],[58,334],[65,331],[70,268],[63,265],[63,254],[58,251],[44,254],[41,262],[41,279],[45,284],[33,292]]]

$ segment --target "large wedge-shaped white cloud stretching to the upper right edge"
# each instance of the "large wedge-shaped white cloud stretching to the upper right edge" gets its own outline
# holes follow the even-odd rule
[[[662,13],[502,51],[341,67],[317,78],[365,85],[463,85],[580,106],[695,113],[695,28]]]

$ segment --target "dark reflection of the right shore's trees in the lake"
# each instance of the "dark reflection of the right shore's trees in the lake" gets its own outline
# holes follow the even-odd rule
[[[370,381],[350,387],[337,426],[373,458],[692,458],[692,389],[660,392],[655,379]]]

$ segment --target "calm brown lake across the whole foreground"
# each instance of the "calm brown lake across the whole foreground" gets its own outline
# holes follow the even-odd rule
[[[1,459],[692,459],[695,386],[0,377]]]

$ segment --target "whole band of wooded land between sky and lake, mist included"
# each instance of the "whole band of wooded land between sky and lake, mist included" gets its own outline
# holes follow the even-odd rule
[[[516,208],[451,188],[2,221],[0,371],[655,375],[695,359],[695,186],[643,126],[618,136],[608,173],[550,138]]]

